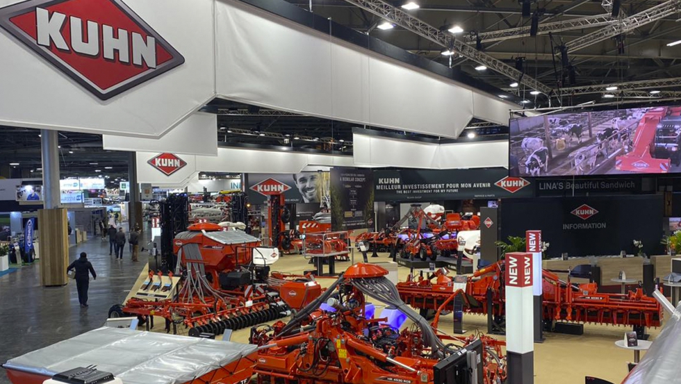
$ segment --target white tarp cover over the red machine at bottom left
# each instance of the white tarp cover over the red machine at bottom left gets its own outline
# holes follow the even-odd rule
[[[256,349],[252,344],[102,327],[8,360],[4,367],[53,376],[96,365],[125,384],[181,384]]]

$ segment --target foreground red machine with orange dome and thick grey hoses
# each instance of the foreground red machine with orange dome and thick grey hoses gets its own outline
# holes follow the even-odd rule
[[[437,335],[400,300],[387,274],[377,265],[352,265],[288,324],[252,328],[258,383],[445,384],[471,383],[473,376],[475,383],[503,383],[504,342]],[[387,318],[371,317],[366,297],[396,308],[413,326],[399,331]]]

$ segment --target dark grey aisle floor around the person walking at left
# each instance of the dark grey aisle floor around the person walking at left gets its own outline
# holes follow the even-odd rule
[[[80,308],[73,281],[64,287],[42,287],[40,262],[0,276],[0,364],[104,324],[110,306],[126,298],[145,266],[131,261],[128,244],[122,262],[108,251],[108,240],[99,237],[69,249],[69,260],[87,252],[97,272],[97,280],[90,281],[87,309]],[[140,260],[144,256],[140,252]],[[6,383],[10,381],[0,369],[0,384]]]

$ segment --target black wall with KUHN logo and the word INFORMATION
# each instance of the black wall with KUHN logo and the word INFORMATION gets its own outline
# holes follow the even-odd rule
[[[633,219],[632,212],[640,212],[640,219]],[[501,238],[541,231],[541,242],[550,244],[544,253],[554,258],[564,252],[568,256],[636,254],[634,240],[643,242],[643,252],[657,255],[664,251],[659,243],[662,213],[662,195],[507,199],[500,210]]]

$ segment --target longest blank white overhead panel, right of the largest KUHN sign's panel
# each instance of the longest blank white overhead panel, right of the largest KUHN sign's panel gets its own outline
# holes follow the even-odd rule
[[[219,97],[442,137],[458,137],[473,117],[466,85],[238,1],[216,8]]]

